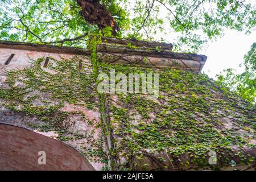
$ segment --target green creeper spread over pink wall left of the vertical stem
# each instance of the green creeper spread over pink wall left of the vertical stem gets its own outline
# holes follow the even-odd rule
[[[86,159],[106,164],[108,160],[103,148],[103,133],[99,138],[94,138],[95,130],[101,127],[101,123],[92,121],[76,109],[83,107],[97,111],[96,83],[89,57],[48,59],[46,67],[43,67],[46,57],[42,57],[31,60],[31,67],[6,72],[7,80],[0,88],[0,105],[25,118],[36,118],[37,122],[28,122],[27,127],[45,132],[55,131],[57,139],[63,142],[85,139],[76,149]],[[75,107],[74,111],[62,110],[67,105]],[[70,123],[73,117],[80,118],[92,130],[89,133],[70,131],[70,126],[65,123]],[[23,125],[26,125],[26,121]]]

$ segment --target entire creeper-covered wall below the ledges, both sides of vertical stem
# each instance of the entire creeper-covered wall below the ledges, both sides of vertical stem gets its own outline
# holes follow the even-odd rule
[[[253,168],[255,106],[189,69],[109,64],[98,44],[89,40],[90,55],[47,55],[47,67],[46,56],[8,72],[12,62],[1,62],[0,122],[53,134],[96,169]],[[98,74],[110,69],[158,73],[159,97],[98,93]],[[208,162],[210,151],[216,165]]]

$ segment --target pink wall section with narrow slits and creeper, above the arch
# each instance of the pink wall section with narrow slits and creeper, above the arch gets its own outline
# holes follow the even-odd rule
[[[1,53],[0,122],[61,140],[94,168],[104,169],[100,113],[89,57],[18,49],[1,49]],[[5,65],[10,53],[15,57]],[[49,61],[44,67],[46,57]]]

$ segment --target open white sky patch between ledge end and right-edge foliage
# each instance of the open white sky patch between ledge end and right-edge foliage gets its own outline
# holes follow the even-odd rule
[[[222,38],[210,42],[208,48],[200,52],[208,57],[202,72],[213,79],[216,79],[216,74],[227,68],[233,68],[237,73],[242,73],[245,68],[239,67],[239,64],[243,63],[243,56],[254,42],[256,42],[255,31],[245,35],[242,32],[226,30]]]

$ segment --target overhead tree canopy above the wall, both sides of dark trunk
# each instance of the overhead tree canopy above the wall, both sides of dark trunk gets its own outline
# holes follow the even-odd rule
[[[98,0],[117,20],[118,37],[172,42],[197,52],[224,28],[250,33],[255,3],[243,0]],[[2,0],[0,39],[84,46],[97,31],[75,0]]]

